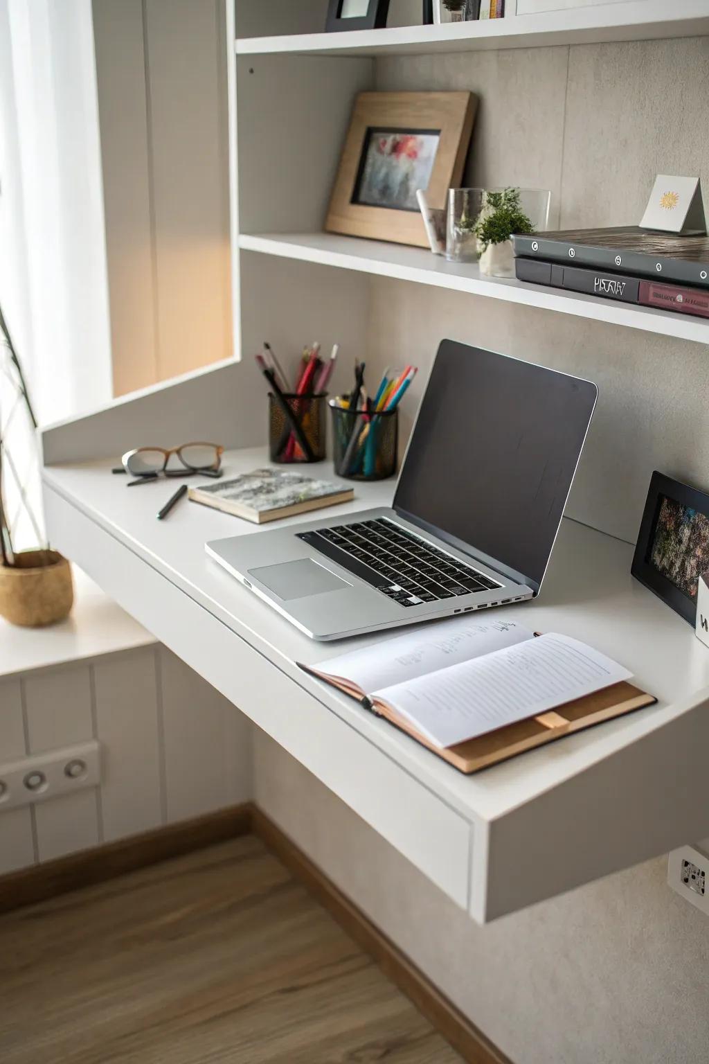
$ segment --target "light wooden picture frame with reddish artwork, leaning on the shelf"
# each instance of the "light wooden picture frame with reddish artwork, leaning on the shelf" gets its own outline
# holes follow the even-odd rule
[[[431,207],[445,206],[462,177],[476,104],[472,93],[360,93],[325,229],[427,248],[417,189]]]

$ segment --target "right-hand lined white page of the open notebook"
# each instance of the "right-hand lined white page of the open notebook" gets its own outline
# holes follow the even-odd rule
[[[632,674],[565,635],[541,635],[487,658],[379,692],[438,747],[583,698]]]

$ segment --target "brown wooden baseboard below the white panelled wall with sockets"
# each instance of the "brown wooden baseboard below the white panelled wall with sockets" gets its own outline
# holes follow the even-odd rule
[[[0,913],[246,835],[251,831],[252,812],[250,802],[232,805],[1,876]]]

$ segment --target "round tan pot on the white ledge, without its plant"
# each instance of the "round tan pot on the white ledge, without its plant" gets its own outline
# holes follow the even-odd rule
[[[55,550],[20,551],[14,566],[0,565],[0,616],[12,625],[53,625],[72,604],[71,568]]]

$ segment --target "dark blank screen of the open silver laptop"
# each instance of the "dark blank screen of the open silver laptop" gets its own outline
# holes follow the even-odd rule
[[[596,396],[589,381],[443,340],[394,509],[538,589]]]

